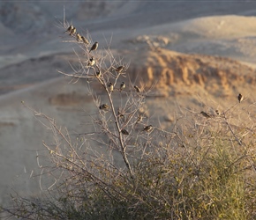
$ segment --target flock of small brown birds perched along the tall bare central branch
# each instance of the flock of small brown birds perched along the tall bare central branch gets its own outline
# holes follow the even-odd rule
[[[77,29],[74,26],[72,26],[72,25],[69,26],[64,33],[69,33],[69,35],[75,37],[77,41],[83,42],[87,46],[89,45],[89,40],[87,40],[87,38],[85,38],[84,36],[82,36],[79,33],[77,33]],[[96,50],[98,47],[99,47],[99,43],[97,41],[94,42],[92,47],[89,49],[88,54],[90,54],[91,51]],[[89,60],[87,62],[87,66],[88,67],[93,67],[95,65],[95,63],[96,63],[95,58],[94,58],[93,55],[91,55],[91,57],[89,58]],[[117,71],[118,74],[121,74],[122,72],[124,72],[125,68],[124,68],[124,66],[118,66],[117,68],[115,68],[115,70]],[[99,69],[99,67],[98,67],[98,70],[95,71],[95,75],[98,78],[102,77],[102,72]],[[136,92],[138,92],[138,93],[141,92],[141,90],[139,89],[139,86],[134,85],[133,87],[134,87]],[[120,84],[119,91],[122,92],[122,91],[124,91],[124,89],[125,89],[125,83],[122,82]],[[114,92],[114,90],[115,90],[114,84],[112,84],[111,82],[109,82],[109,84],[108,84],[108,90],[109,90],[109,92]],[[99,106],[99,109],[104,111],[104,112],[108,112],[110,110],[110,106],[108,104],[102,104],[101,106]],[[138,120],[136,121],[136,124],[141,122],[142,119],[143,119],[143,117],[139,114],[139,117],[138,117]],[[149,133],[149,132],[151,132],[153,130],[153,128],[154,127],[152,125],[147,125],[147,126],[145,126],[143,128],[142,131],[146,131],[146,132]],[[125,135],[125,136],[129,135],[129,132],[127,130],[125,130],[124,128],[121,129],[121,133],[123,135]]]

